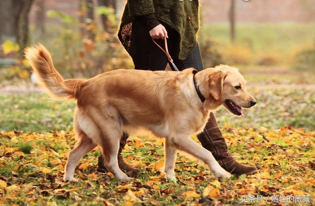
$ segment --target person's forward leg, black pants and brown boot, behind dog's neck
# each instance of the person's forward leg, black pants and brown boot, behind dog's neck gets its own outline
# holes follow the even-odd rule
[[[189,67],[193,67],[198,71],[203,70],[204,68],[198,44],[186,59],[174,59],[174,63],[179,70]],[[255,167],[243,165],[231,156],[230,152],[227,150],[225,140],[222,137],[221,130],[213,113],[210,113],[210,118],[203,132],[198,134],[197,138],[202,147],[211,151],[221,167],[223,167],[227,172],[235,175],[252,174],[257,172]]]

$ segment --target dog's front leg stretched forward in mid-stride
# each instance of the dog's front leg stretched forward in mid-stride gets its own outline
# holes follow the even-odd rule
[[[188,152],[196,158],[203,160],[216,177],[231,177],[231,174],[226,172],[219,165],[212,153],[194,142],[189,135],[176,135],[173,138],[170,138],[169,141],[171,141],[172,145],[178,149]]]

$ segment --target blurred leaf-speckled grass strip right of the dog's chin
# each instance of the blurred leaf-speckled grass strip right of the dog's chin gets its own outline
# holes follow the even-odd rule
[[[314,88],[256,88],[250,92],[256,98],[257,105],[245,110],[244,118],[227,114],[221,108],[216,114],[220,125],[229,124],[240,128],[279,128],[291,125],[315,130]]]

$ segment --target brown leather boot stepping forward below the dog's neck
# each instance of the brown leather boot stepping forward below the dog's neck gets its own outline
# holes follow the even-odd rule
[[[202,147],[211,151],[221,167],[227,172],[234,175],[249,175],[257,172],[255,167],[243,165],[231,156],[213,113],[210,113],[205,129],[197,135],[197,138]]]

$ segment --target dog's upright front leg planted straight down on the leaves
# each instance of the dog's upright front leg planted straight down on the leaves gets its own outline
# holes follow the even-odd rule
[[[175,162],[177,156],[177,148],[172,145],[169,139],[165,140],[165,173],[168,181],[176,182]]]

